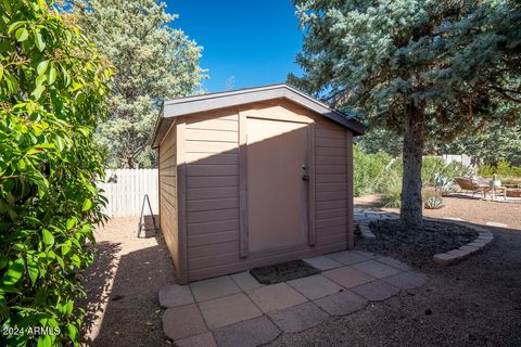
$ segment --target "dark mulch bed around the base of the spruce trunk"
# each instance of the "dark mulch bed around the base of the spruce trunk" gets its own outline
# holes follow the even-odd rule
[[[418,268],[432,265],[435,254],[461,247],[478,237],[478,232],[465,226],[429,220],[421,229],[404,228],[399,220],[377,220],[369,228],[377,237],[363,241],[365,249],[390,255]]]

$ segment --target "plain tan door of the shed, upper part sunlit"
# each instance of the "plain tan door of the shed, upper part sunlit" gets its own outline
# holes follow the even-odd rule
[[[246,133],[249,249],[305,244],[307,124],[247,118]]]

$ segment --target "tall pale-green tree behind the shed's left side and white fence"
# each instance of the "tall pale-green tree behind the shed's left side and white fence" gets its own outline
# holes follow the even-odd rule
[[[169,23],[155,0],[73,0],[73,22],[89,33],[117,69],[100,143],[112,167],[153,164],[149,146],[161,101],[200,87],[202,48]]]

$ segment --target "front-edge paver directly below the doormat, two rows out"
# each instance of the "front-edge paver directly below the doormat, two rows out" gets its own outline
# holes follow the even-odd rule
[[[268,313],[271,320],[288,333],[302,332],[323,322],[329,314],[313,303],[304,303],[280,311]]]

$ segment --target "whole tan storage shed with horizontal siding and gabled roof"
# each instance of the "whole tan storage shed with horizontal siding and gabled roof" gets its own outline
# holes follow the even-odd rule
[[[363,132],[285,85],[165,101],[160,226],[180,281],[353,247]]]

